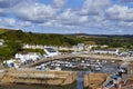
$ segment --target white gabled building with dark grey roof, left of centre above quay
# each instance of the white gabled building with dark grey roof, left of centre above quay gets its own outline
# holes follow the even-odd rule
[[[45,57],[54,57],[59,55],[59,51],[53,48],[44,48]]]

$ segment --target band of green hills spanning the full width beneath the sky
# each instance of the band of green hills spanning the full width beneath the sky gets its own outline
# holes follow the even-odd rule
[[[33,33],[22,30],[0,29],[0,38],[30,44],[73,46],[76,43],[108,44],[110,47],[133,48],[133,34],[58,34],[58,33]]]

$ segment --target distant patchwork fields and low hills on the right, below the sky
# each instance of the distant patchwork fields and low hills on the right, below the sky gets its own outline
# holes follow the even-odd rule
[[[86,44],[108,44],[111,48],[127,48],[129,50],[133,50],[133,34],[74,33],[68,36],[76,37],[76,39]]]

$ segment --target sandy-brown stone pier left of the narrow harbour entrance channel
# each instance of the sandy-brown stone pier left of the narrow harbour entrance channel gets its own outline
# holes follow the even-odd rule
[[[73,83],[76,82],[76,79],[78,79],[78,75],[76,72],[73,71],[38,71],[30,69],[28,70],[9,69],[3,71],[2,75],[0,76],[0,83],[1,86],[2,85],[37,85],[37,86],[41,85],[48,87],[45,89],[60,89],[60,87],[62,88],[72,87],[65,89],[75,89],[74,87],[76,86]]]

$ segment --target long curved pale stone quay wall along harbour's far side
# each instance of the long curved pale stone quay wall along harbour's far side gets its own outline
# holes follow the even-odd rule
[[[60,59],[69,59],[69,58],[92,58],[92,59],[99,59],[99,60],[115,60],[115,61],[123,61],[124,59],[122,57],[116,57],[116,56],[103,56],[103,55],[60,55],[51,58],[42,58],[38,61],[28,63],[22,66],[22,68],[30,68],[33,66],[37,66],[39,63],[43,63],[45,61],[52,61],[52,60],[60,60]]]

